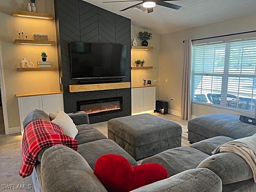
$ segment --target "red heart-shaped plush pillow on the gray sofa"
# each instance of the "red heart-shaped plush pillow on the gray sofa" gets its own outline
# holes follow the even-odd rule
[[[168,172],[162,165],[146,163],[132,167],[126,158],[114,154],[98,158],[94,174],[108,192],[129,192],[168,178]]]

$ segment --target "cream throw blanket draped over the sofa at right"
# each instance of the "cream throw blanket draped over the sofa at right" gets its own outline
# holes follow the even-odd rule
[[[212,154],[218,152],[232,152],[238,154],[250,165],[256,183],[256,135],[236,139],[218,146]]]

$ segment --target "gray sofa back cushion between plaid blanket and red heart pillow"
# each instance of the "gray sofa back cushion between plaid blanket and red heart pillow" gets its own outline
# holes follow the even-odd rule
[[[62,145],[47,149],[41,162],[44,192],[107,192],[78,152]]]

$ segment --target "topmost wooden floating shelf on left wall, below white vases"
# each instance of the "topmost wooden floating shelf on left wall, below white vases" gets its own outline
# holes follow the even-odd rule
[[[34,13],[34,12],[19,11],[19,10],[13,10],[12,16],[34,18],[34,19],[45,19],[45,20],[53,20],[53,18],[54,18],[53,14]]]

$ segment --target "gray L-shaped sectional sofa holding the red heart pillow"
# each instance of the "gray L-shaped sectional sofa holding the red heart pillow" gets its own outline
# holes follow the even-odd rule
[[[32,174],[35,191],[106,192],[93,173],[98,157],[103,154],[119,154],[127,158],[132,166],[136,166],[137,162],[114,141],[90,126],[86,113],[69,115],[78,127],[75,138],[78,140],[78,150],[76,152],[61,145],[42,150]],[[35,110],[26,117],[24,125],[36,119],[50,120],[46,113]],[[191,147],[166,150],[144,159],[142,164],[162,164],[170,177],[132,192],[221,192],[222,189],[223,192],[256,191],[252,171],[243,159],[232,153],[210,156],[213,149],[230,140],[233,138],[215,137]]]

